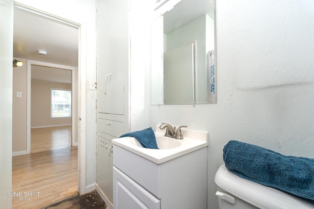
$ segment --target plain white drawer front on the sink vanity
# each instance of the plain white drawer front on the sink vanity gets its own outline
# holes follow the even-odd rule
[[[113,150],[113,165],[157,198],[161,198],[161,164],[149,161],[117,145],[113,145]]]

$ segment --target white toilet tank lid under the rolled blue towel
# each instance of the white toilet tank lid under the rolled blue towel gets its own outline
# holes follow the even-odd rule
[[[223,190],[261,209],[314,209],[314,204],[278,189],[240,178],[221,165],[215,183]]]

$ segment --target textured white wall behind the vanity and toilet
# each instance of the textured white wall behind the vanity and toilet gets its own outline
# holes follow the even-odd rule
[[[311,0],[217,0],[217,104],[149,105],[149,126],[209,132],[209,209],[218,208],[214,175],[231,139],[314,157],[311,8]]]

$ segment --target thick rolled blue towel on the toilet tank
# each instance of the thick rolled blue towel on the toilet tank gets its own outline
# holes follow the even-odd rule
[[[314,203],[314,159],[284,156],[239,141],[223,149],[226,167],[235,175],[271,186]]]

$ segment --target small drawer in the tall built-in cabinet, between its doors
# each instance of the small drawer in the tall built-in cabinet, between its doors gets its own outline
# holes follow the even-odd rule
[[[98,131],[101,133],[107,133],[114,137],[119,137],[124,133],[123,122],[108,120],[105,118],[99,118]]]

